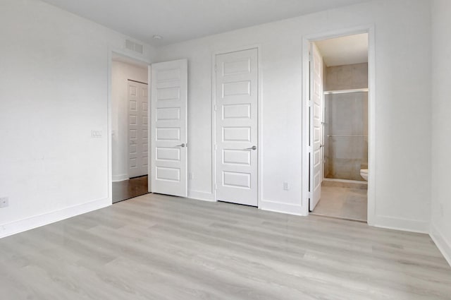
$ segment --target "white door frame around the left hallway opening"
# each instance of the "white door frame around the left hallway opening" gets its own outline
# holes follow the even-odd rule
[[[112,132],[112,121],[111,121],[111,112],[112,112],[112,103],[113,103],[113,99],[112,99],[112,88],[113,88],[113,82],[112,82],[112,66],[113,66],[113,56],[114,54],[118,54],[120,56],[124,56],[127,59],[130,59],[132,61],[137,61],[137,63],[142,64],[142,65],[147,65],[147,86],[150,87],[150,80],[151,80],[151,70],[150,70],[150,65],[152,64],[152,61],[150,61],[150,59],[147,59],[144,56],[139,56],[139,55],[135,55],[132,54],[130,52],[125,51],[124,49],[118,49],[115,47],[109,47],[108,49],[108,84],[107,84],[107,119],[108,119],[108,126],[107,126],[107,133],[106,133],[106,139],[107,139],[107,143],[108,143],[108,152],[107,152],[107,157],[108,157],[108,199],[109,199],[109,203],[113,203],[113,155],[112,155],[112,149],[113,149],[113,143],[112,143],[112,138],[111,138],[111,134]],[[149,105],[147,105],[147,114],[149,116],[149,121],[147,122],[149,125],[148,127],[148,140],[149,140],[149,149],[151,147],[150,143],[152,142],[152,140],[150,140],[150,128],[151,128],[151,122],[150,122],[150,112],[151,112],[151,105],[150,105],[150,92],[147,92],[147,100],[149,102]],[[148,172],[150,175],[150,172],[152,171],[151,165],[148,164]],[[149,193],[152,193],[152,186],[150,184],[148,184],[148,191]]]

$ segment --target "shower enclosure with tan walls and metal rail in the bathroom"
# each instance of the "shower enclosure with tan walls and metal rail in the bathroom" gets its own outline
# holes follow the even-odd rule
[[[363,181],[368,168],[368,90],[324,92],[324,178]]]

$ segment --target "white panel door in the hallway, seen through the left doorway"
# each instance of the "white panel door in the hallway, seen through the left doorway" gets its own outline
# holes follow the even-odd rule
[[[147,84],[128,80],[128,178],[148,173],[148,104]]]

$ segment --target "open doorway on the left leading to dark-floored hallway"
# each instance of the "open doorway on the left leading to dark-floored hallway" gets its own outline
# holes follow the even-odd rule
[[[112,202],[149,193],[148,65],[114,54],[111,61]]]

